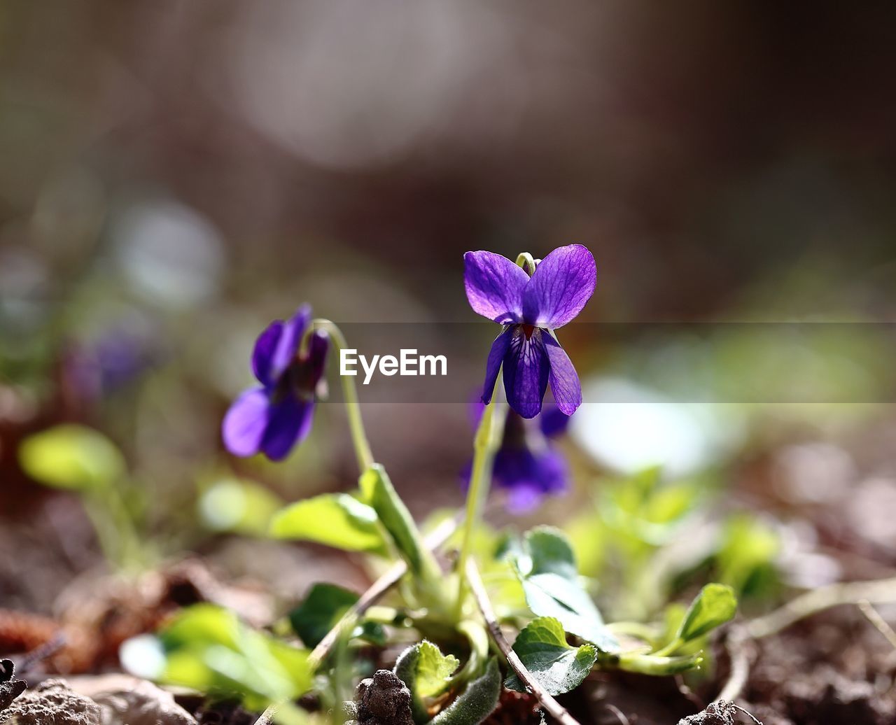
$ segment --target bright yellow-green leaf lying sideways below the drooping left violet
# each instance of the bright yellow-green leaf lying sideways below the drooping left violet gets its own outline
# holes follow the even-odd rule
[[[346,551],[386,554],[376,512],[348,494],[323,494],[287,506],[274,515],[271,534]]]

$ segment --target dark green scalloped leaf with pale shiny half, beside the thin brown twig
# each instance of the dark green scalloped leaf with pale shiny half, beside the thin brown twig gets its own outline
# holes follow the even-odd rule
[[[551,695],[563,695],[580,686],[598,659],[590,644],[570,647],[563,625],[553,617],[533,619],[517,636],[513,651]],[[526,692],[516,674],[511,674],[504,686]]]

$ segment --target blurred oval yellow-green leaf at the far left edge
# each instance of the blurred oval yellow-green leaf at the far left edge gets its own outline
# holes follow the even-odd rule
[[[29,436],[19,448],[19,462],[32,479],[54,488],[104,488],[125,474],[125,459],[116,445],[96,430],[76,425]]]

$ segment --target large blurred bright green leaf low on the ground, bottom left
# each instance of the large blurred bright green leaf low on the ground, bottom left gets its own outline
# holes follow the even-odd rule
[[[202,693],[237,695],[253,710],[293,700],[312,684],[308,652],[242,623],[228,609],[182,609],[159,633],[165,663],[159,680]]]

